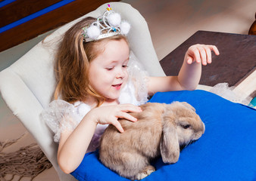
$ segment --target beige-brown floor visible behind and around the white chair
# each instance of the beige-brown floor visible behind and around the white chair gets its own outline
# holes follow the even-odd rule
[[[247,0],[246,3],[243,0],[123,0],[121,2],[130,3],[145,17],[159,60],[198,30],[247,34],[251,23],[254,22],[256,7],[254,0]],[[0,70],[25,54],[44,36],[1,52]],[[23,133],[26,133],[25,136],[5,151],[17,150],[21,146],[33,143],[34,140],[11,114],[1,97],[0,140],[12,140]],[[52,168],[40,173],[34,180],[58,180],[58,176]]]

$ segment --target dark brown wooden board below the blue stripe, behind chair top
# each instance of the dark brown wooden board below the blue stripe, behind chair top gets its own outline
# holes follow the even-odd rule
[[[0,34],[0,52],[82,17],[108,0],[76,0]],[[114,0],[112,2],[118,2]]]

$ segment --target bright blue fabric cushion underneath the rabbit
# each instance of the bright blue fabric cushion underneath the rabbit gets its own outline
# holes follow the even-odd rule
[[[176,164],[159,158],[156,171],[143,180],[256,180],[256,110],[204,90],[157,93],[152,103],[186,101],[205,124],[203,136],[187,146]],[[73,173],[79,180],[129,180],[109,170],[98,152],[86,154]]]

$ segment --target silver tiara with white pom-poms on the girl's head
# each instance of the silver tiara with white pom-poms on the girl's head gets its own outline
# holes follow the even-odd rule
[[[98,17],[89,27],[83,28],[83,41],[95,41],[101,38],[108,38],[114,35],[127,35],[130,31],[130,23],[121,20],[120,14],[112,11],[108,5],[107,11]]]

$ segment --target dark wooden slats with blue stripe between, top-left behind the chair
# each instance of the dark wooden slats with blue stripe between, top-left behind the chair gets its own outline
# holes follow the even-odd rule
[[[106,2],[109,1],[0,0],[0,52],[82,17]]]

